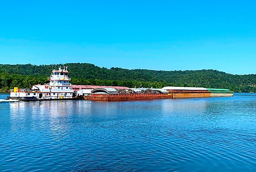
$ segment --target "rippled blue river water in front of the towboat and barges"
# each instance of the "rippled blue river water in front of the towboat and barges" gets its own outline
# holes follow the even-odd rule
[[[0,171],[255,171],[256,94],[6,102]]]

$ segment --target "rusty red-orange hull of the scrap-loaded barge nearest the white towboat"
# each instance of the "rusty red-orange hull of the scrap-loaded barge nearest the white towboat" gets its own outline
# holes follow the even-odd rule
[[[84,96],[84,99],[86,100],[99,101],[123,101],[168,98],[173,98],[173,94],[91,94],[90,96]]]

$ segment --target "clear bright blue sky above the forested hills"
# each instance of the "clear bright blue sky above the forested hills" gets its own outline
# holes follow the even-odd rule
[[[256,1],[0,1],[0,64],[256,73]]]

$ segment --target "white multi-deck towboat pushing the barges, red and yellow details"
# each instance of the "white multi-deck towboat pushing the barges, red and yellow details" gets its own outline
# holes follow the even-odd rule
[[[31,89],[19,89],[14,87],[10,90],[10,96],[7,99],[18,99],[22,101],[36,101],[36,100],[63,100],[63,99],[82,99],[76,97],[74,90],[71,89],[71,80],[68,77],[69,72],[67,71],[68,66],[64,66],[61,69],[53,69],[49,84],[44,85],[33,85]]]

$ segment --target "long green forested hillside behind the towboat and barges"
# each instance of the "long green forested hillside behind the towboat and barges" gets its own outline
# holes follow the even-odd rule
[[[107,69],[89,63],[56,64],[69,66],[72,84],[92,84],[144,88],[164,86],[193,86],[205,88],[228,88],[235,92],[256,92],[256,74],[233,75],[216,70],[154,71],[147,69]],[[55,68],[55,64],[54,64]],[[43,84],[50,76],[52,65],[0,64],[0,89],[6,91],[18,86],[29,88]]]

